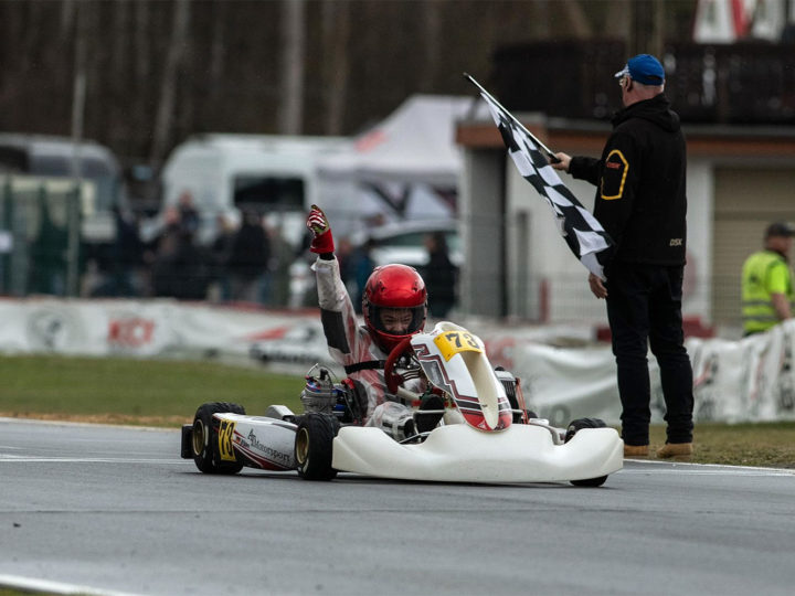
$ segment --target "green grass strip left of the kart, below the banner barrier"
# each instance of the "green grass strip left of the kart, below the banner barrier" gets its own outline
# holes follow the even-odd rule
[[[303,386],[300,375],[215,362],[0,356],[4,416],[176,426],[204,402],[296,408]]]

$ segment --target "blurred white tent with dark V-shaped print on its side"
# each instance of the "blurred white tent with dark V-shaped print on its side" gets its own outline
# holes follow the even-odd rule
[[[454,217],[463,168],[455,126],[473,102],[414,95],[348,150],[321,157],[320,201],[337,230],[352,232],[375,219]]]

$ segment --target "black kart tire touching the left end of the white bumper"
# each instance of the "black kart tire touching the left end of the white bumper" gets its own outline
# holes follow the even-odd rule
[[[331,480],[337,476],[331,467],[331,450],[339,428],[339,421],[328,414],[309,412],[301,417],[296,429],[295,460],[304,480]]]

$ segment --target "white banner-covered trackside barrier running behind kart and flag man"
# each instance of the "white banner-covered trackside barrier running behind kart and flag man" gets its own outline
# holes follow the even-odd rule
[[[0,352],[218,359],[303,374],[330,361],[316,311],[240,309],[173,300],[0,299]],[[507,327],[459,320],[491,364],[520,377],[529,407],[554,425],[618,424],[615,362],[589,327]],[[565,347],[561,347],[565,345]],[[690,338],[697,422],[795,419],[795,320],[739,341]],[[257,364],[258,365],[258,364]],[[653,421],[665,412],[649,355]]]

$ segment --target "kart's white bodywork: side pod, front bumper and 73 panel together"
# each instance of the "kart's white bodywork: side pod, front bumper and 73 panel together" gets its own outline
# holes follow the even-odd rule
[[[512,423],[515,411],[504,384],[480,339],[466,329],[441,322],[430,333],[413,336],[411,350],[428,385],[448,397],[441,425],[422,441],[404,443],[379,427],[342,426],[332,441],[328,438],[331,468],[377,478],[487,483],[604,481],[622,469],[624,443],[613,428],[581,427],[565,440],[566,430],[547,421]],[[418,374],[416,366],[409,370]],[[415,402],[422,397],[403,387],[399,395]],[[285,406],[271,406],[265,416],[214,417],[220,421],[221,459],[235,461],[237,454],[245,465],[261,469],[296,468],[298,426],[288,422],[295,418]]]

